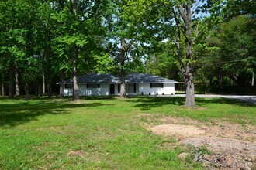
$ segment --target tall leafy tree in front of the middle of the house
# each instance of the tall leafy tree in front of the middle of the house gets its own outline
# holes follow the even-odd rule
[[[120,77],[120,97],[126,97],[126,75],[142,69],[140,59],[142,48],[138,42],[140,32],[136,29],[137,23],[127,12],[134,11],[130,8],[130,1],[109,1],[109,11],[106,15],[106,25],[109,28],[110,56],[113,58],[114,74]]]

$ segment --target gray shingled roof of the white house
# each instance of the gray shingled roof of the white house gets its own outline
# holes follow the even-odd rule
[[[73,79],[64,83],[73,83]],[[109,73],[88,73],[78,77],[78,83],[120,83],[118,76]],[[152,76],[147,73],[131,73],[126,76],[126,83],[178,83],[174,80],[165,79],[161,76]]]

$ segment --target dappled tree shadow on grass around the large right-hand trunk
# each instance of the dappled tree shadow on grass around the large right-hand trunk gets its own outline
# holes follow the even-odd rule
[[[185,104],[185,97],[129,97],[135,100],[128,100],[128,102],[135,103],[135,107],[140,110],[150,110],[155,107],[164,105],[183,106]],[[227,99],[227,98],[195,98],[195,104],[199,107],[205,107],[207,104],[231,104],[241,107],[256,107],[255,104],[249,104],[241,100]]]

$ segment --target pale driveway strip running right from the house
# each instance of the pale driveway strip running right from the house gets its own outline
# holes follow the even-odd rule
[[[185,94],[175,94],[175,97],[185,97]],[[241,95],[216,95],[216,94],[195,94],[195,97],[223,97],[230,99],[243,100],[252,104],[256,104],[256,96],[241,96]]]

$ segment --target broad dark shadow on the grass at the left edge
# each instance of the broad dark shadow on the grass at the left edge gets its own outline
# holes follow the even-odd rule
[[[29,121],[36,121],[39,116],[45,114],[71,114],[68,109],[78,107],[102,107],[109,104],[94,102],[90,104],[75,104],[65,101],[53,100],[31,100],[16,101],[1,98],[0,102],[0,127],[14,128],[19,124],[26,124]]]

